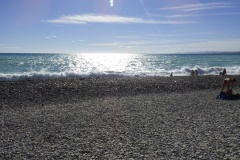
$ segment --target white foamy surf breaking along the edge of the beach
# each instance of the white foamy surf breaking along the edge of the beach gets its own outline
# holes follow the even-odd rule
[[[218,75],[222,71],[221,67],[210,67],[210,68],[188,68],[182,67],[181,69],[173,70],[135,70],[134,72],[114,72],[114,71],[102,71],[102,72],[24,72],[24,73],[13,73],[3,74],[0,73],[0,81],[15,81],[15,80],[37,80],[37,79],[51,79],[51,78],[88,78],[88,77],[154,77],[164,76],[167,77],[170,73],[173,76],[189,76],[191,70],[197,70],[199,76],[201,75]],[[227,68],[228,75],[240,75],[240,67],[234,66]]]

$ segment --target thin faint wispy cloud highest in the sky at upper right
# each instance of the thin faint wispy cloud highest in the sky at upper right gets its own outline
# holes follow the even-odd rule
[[[219,8],[235,8],[232,3],[197,3],[187,4],[175,7],[161,8],[164,10],[182,10],[182,11],[196,11],[196,10],[207,10],[207,9],[219,9]]]

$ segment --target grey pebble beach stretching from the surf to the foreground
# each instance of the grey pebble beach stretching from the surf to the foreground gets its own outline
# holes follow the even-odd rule
[[[240,92],[240,76],[234,92]],[[0,159],[240,159],[223,76],[0,82]]]

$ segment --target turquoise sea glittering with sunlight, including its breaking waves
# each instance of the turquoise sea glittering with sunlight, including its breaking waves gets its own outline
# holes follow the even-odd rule
[[[86,77],[240,75],[240,53],[30,54],[0,53],[0,81]]]

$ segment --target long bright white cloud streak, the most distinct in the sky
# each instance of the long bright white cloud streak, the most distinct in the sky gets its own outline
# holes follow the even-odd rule
[[[153,19],[143,19],[138,17],[122,17],[116,15],[69,15],[62,16],[57,19],[46,20],[44,22],[48,23],[62,23],[62,24],[88,24],[88,23],[122,23],[122,24],[188,24],[195,23],[193,21],[171,21],[171,20],[153,20]]]

